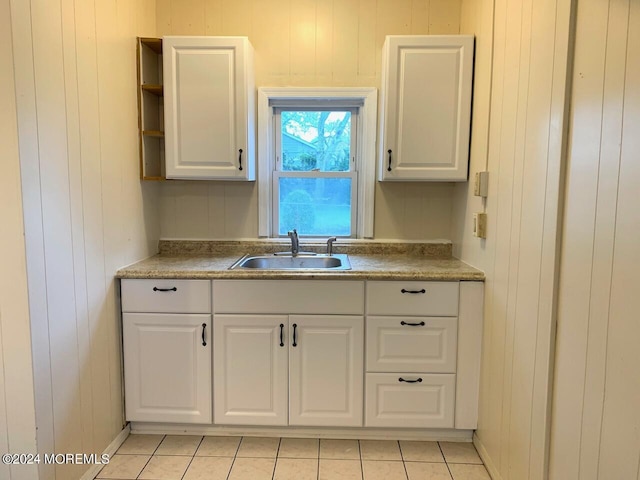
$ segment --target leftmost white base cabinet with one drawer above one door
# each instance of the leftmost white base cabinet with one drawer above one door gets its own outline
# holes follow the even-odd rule
[[[211,282],[121,287],[126,420],[211,423]]]

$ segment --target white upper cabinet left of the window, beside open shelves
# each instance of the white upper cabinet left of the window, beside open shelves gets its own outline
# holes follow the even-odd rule
[[[246,37],[164,37],[166,176],[255,180],[253,47]]]

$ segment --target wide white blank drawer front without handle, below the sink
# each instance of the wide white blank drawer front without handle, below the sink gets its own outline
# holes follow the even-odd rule
[[[362,315],[364,282],[214,280],[215,313]]]

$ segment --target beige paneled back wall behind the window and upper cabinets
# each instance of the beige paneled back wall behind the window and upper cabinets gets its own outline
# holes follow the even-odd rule
[[[258,86],[380,87],[385,35],[459,33],[460,0],[158,0],[158,35],[247,35]],[[366,161],[375,162],[374,158]],[[255,238],[255,184],[167,182],[163,238]],[[376,238],[451,238],[453,185],[377,183]]]

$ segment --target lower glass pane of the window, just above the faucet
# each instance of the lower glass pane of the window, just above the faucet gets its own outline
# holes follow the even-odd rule
[[[351,235],[351,178],[280,177],[279,235]]]

